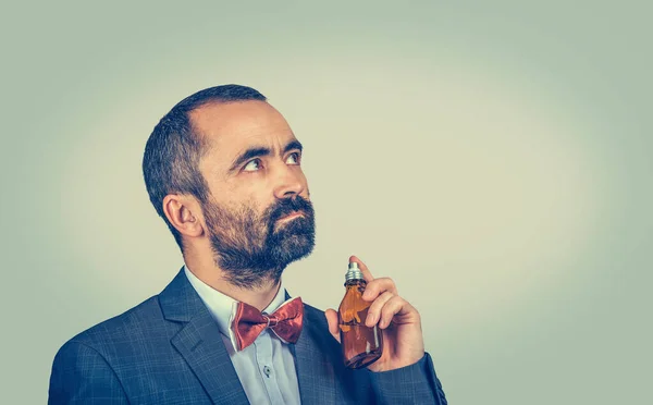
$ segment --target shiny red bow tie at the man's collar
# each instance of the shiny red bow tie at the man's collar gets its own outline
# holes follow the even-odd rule
[[[300,297],[286,300],[271,315],[262,314],[251,305],[238,303],[232,330],[237,349],[242,351],[254,343],[266,328],[270,328],[282,341],[295,343],[301,333],[303,321],[304,304]]]

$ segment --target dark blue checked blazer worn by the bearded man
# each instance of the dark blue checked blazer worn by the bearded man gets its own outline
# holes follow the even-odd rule
[[[303,404],[446,405],[429,354],[397,370],[344,367],[324,312],[305,304],[291,349]],[[71,339],[54,356],[48,404],[247,404],[218,323],[183,268],[161,292]]]

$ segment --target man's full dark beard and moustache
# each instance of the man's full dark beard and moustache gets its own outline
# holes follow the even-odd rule
[[[230,210],[211,201],[202,209],[215,265],[226,281],[238,287],[278,283],[283,270],[308,256],[315,246],[315,211],[300,196],[279,199],[261,214],[246,205]],[[279,222],[294,212],[303,216]]]

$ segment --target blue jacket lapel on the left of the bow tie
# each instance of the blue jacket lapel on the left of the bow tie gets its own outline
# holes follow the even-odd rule
[[[218,323],[197,295],[184,269],[159,294],[163,316],[185,323],[171,343],[184,357],[214,404],[247,404],[247,396],[224,347]]]

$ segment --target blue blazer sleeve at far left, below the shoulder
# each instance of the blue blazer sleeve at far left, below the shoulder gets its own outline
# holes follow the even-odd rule
[[[95,348],[65,343],[54,356],[48,405],[128,404],[118,376]]]

